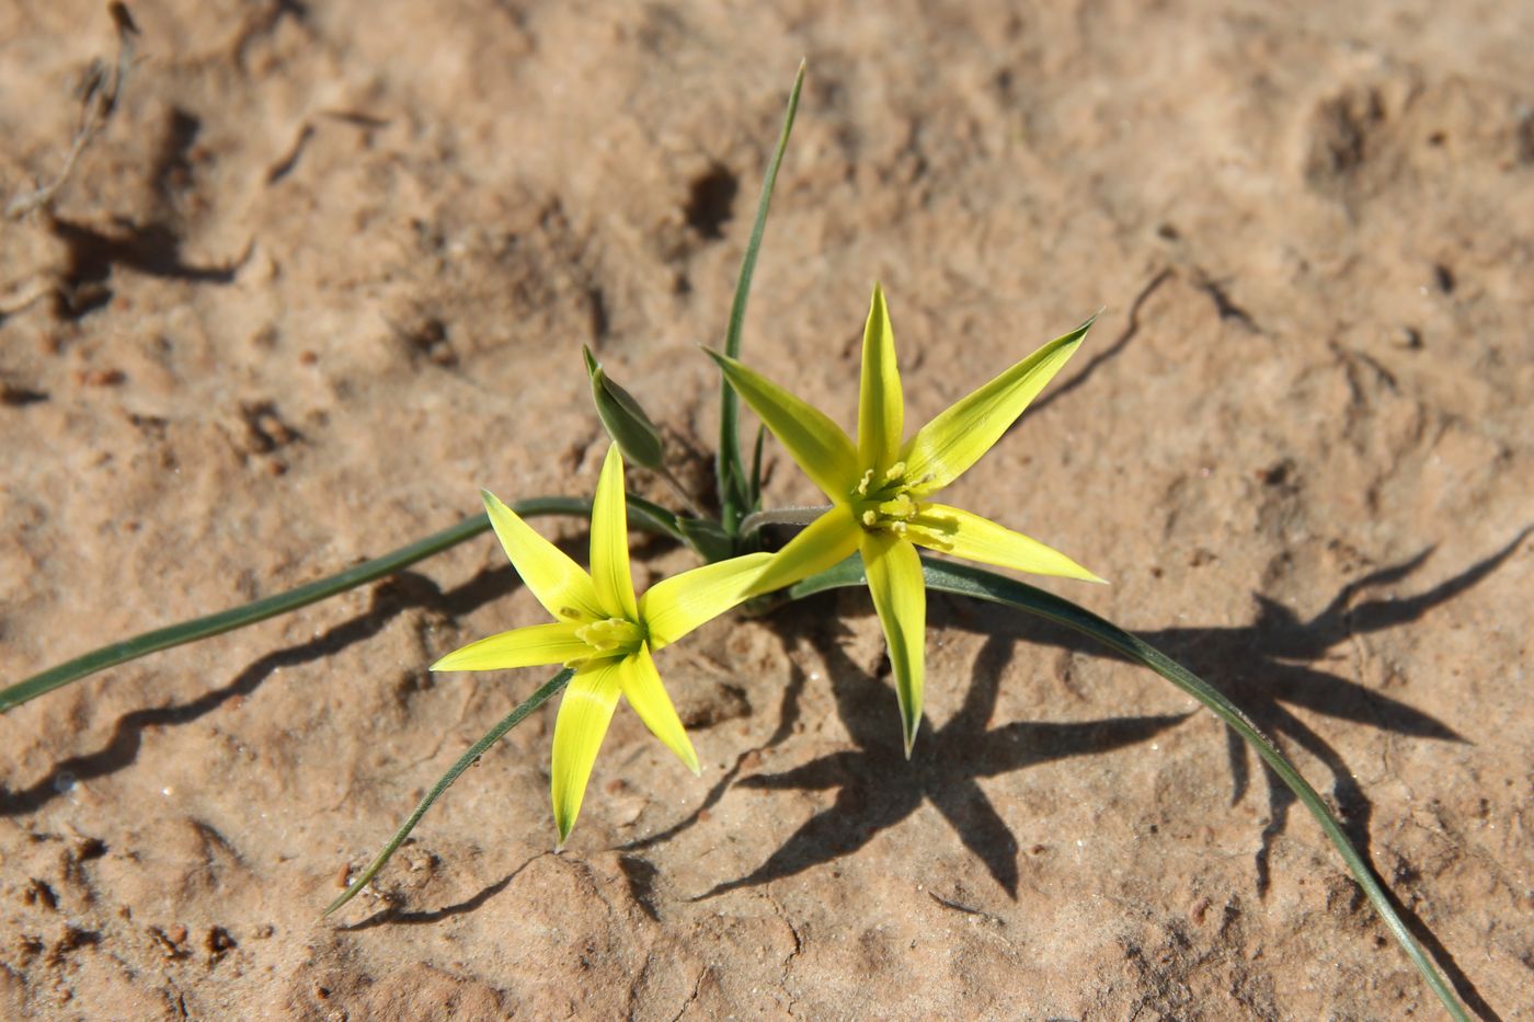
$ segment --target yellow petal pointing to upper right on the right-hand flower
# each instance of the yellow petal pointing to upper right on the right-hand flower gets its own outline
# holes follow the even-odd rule
[[[1043,345],[917,430],[900,448],[899,460],[905,462],[905,477],[913,482],[925,480],[920,485],[931,493],[980,460],[1081,347],[1094,319],[1097,316]]]

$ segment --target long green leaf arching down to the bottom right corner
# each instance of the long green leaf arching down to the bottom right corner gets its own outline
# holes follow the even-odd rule
[[[1316,824],[1321,826],[1322,833],[1325,833],[1327,839],[1332,841],[1332,847],[1335,847],[1338,855],[1342,856],[1342,861],[1347,864],[1353,879],[1364,888],[1365,898],[1368,898],[1374,912],[1379,913],[1385,928],[1390,930],[1391,936],[1396,938],[1396,944],[1401,945],[1401,948],[1407,953],[1407,958],[1411,959],[1411,964],[1416,965],[1428,988],[1433,990],[1451,1017],[1457,1022],[1470,1022],[1470,1016],[1465,1013],[1465,1008],[1450,990],[1448,984],[1439,974],[1433,959],[1422,950],[1422,945],[1417,944],[1414,936],[1411,936],[1411,930],[1407,928],[1405,921],[1396,913],[1394,905],[1390,904],[1390,895],[1385,893],[1384,885],[1381,885],[1381,882],[1374,878],[1374,870],[1364,859],[1364,856],[1359,855],[1358,849],[1353,847],[1353,842],[1348,841],[1347,833],[1342,830],[1342,824],[1332,815],[1332,810],[1322,801],[1321,795],[1316,793],[1316,789],[1310,787],[1310,781],[1307,781],[1295,764],[1289,761],[1289,757],[1285,757],[1284,752],[1267,738],[1267,735],[1258,730],[1256,724],[1253,724],[1235,703],[1221,695],[1213,686],[1195,675],[1192,671],[1158,651],[1155,646],[1150,646],[1144,640],[1131,635],[1117,625],[1077,606],[1075,603],[1071,603],[1063,597],[1057,597],[1052,592],[1045,592],[1043,589],[1017,582],[1016,579],[1005,579],[982,568],[927,557],[922,559],[922,572],[927,579],[928,589],[940,589],[943,592],[1011,606],[1019,611],[1043,617],[1055,625],[1063,625],[1072,631],[1088,635],[1089,638],[1095,638],[1129,660],[1135,660],[1150,668],[1163,678],[1207,706],[1216,717],[1220,717],[1220,720],[1229,724],[1238,735],[1241,735],[1243,740],[1246,740],[1249,746],[1252,746],[1252,749],[1256,750],[1273,773],[1276,773],[1289,790],[1292,790],[1305,809],[1310,810]],[[824,589],[861,585],[867,585],[862,562],[856,557],[850,557],[834,568],[805,579],[799,585],[790,588],[787,595],[790,600],[798,600]]]

